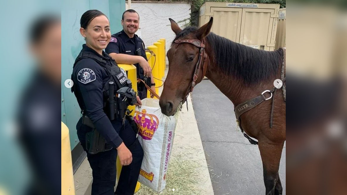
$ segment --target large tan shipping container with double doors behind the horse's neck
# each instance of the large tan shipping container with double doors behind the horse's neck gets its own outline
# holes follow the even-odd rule
[[[256,49],[275,49],[279,4],[206,2],[199,26],[213,17],[211,31]]]

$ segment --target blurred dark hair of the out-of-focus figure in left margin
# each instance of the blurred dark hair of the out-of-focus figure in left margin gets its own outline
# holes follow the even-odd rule
[[[29,40],[32,44],[39,43],[50,27],[61,23],[61,17],[51,14],[37,17],[29,28]]]

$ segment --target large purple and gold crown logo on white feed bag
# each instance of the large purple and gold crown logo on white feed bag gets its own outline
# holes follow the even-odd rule
[[[140,126],[138,134],[143,139],[151,140],[158,129],[159,119],[155,115],[148,114],[146,109],[142,109],[142,112],[135,111],[134,120]]]

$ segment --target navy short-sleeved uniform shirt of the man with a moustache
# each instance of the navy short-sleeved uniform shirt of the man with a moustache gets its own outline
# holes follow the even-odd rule
[[[107,45],[105,52],[142,56],[147,61],[145,44],[142,39],[140,39],[136,34],[133,38],[129,38],[124,30],[111,36],[110,43]],[[142,67],[139,66],[138,63],[134,64],[134,66],[136,66],[137,78],[143,79],[144,74]]]

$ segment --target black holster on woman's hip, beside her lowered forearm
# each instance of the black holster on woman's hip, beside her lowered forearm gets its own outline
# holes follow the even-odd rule
[[[82,124],[93,128],[91,132],[86,133],[86,148],[88,153],[96,154],[99,152],[104,152],[112,149],[112,146],[105,141],[90,118],[83,116]]]

